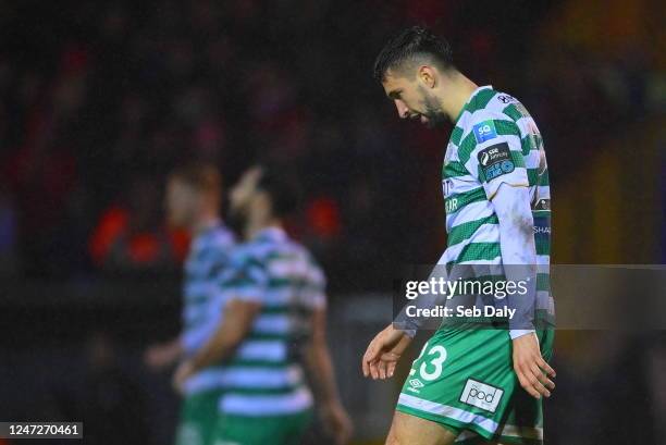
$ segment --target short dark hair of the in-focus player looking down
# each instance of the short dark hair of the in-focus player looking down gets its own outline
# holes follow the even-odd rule
[[[390,69],[428,58],[444,70],[454,69],[451,45],[423,26],[404,29],[388,40],[374,61],[373,76],[382,82]]]

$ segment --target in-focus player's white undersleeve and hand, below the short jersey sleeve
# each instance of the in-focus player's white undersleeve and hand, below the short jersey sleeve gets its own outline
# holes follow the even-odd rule
[[[533,329],[535,305],[534,223],[530,195],[526,186],[503,183],[492,198],[499,225],[499,248],[508,282],[529,281],[526,295],[508,295],[508,306],[515,309],[509,322],[514,349],[514,369],[520,385],[533,397],[550,397],[555,384],[553,368],[541,356],[539,339]]]

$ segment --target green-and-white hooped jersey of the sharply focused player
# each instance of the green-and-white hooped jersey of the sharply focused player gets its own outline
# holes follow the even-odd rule
[[[499,184],[528,186],[538,265],[538,309],[550,298],[551,190],[543,140],[514,97],[478,88],[452,132],[442,170],[447,248],[440,264],[502,265],[499,227],[491,199]]]

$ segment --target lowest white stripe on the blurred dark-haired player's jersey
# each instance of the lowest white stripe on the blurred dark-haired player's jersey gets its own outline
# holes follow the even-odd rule
[[[286,395],[246,395],[227,393],[220,399],[223,413],[238,416],[279,416],[304,411],[312,406],[312,394],[300,387]]]

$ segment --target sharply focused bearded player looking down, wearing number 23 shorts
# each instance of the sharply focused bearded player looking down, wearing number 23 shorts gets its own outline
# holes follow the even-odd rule
[[[555,371],[546,362],[551,197],[534,120],[516,98],[467,78],[448,44],[423,27],[392,39],[374,75],[402,119],[454,123],[442,173],[447,248],[439,264],[492,267],[507,282],[522,270],[531,283],[523,297],[508,298],[516,320],[495,329],[442,324],[414,361],[387,444],[540,444],[541,397],[551,395]],[[380,332],[362,358],[363,374],[392,376],[421,324],[407,319]]]

